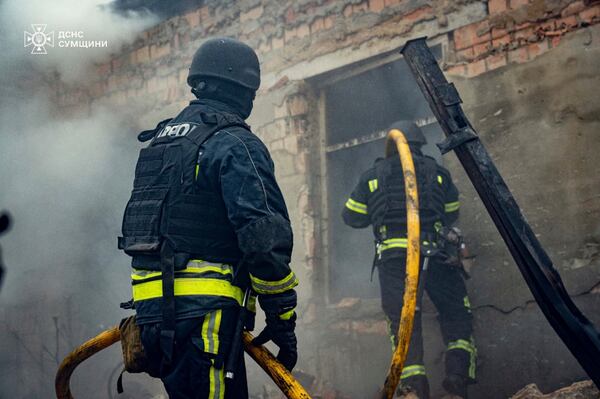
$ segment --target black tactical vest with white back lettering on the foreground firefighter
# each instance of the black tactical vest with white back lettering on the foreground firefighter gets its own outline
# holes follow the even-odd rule
[[[140,151],[133,191],[123,217],[119,249],[133,266],[161,270],[160,249],[166,241],[176,254],[175,270],[190,258],[235,264],[240,260],[236,234],[221,193],[201,191],[196,184],[200,146],[231,126],[249,129],[232,114],[185,108],[140,140],[152,139]]]

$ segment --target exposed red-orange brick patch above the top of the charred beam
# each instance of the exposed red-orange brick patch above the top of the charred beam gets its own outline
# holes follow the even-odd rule
[[[600,22],[600,4],[589,3],[491,0],[487,18],[452,32],[454,54],[446,72],[473,77],[530,61],[558,46],[569,32]]]

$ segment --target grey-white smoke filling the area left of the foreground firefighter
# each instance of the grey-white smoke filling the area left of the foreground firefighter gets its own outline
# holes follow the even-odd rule
[[[85,83],[94,63],[156,21],[150,14],[114,14],[107,4],[0,3],[0,209],[14,217],[2,237],[0,397],[52,397],[58,362],[126,314],[118,305],[130,296],[128,259],[116,237],[137,153],[135,124],[99,107],[83,117],[57,115],[50,88],[56,80]],[[31,24],[54,32],[47,54],[24,47]],[[108,46],[60,47],[61,31]],[[76,396],[107,397],[116,351],[78,371]]]

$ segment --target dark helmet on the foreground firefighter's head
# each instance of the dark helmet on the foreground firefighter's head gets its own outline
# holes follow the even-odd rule
[[[187,82],[199,78],[223,79],[256,91],[260,86],[260,66],[252,48],[239,40],[218,37],[205,41],[194,54]]]

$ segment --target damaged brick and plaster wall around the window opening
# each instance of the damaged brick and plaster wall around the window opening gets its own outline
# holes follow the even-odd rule
[[[126,110],[145,129],[191,98],[187,68],[204,38],[234,36],[257,49],[263,85],[250,123],[274,158],[295,231],[299,366],[319,376],[319,389],[335,386],[360,398],[383,382],[390,345],[376,301],[330,304],[325,294],[327,218],[338,210],[328,215],[321,206],[323,109],[306,80],[411,38],[427,35],[441,44],[467,114],[592,317],[600,282],[594,174],[600,39],[598,27],[589,26],[597,22],[600,5],[588,1],[212,1],[144,32],[97,65],[88,84],[60,85],[55,93],[61,112]],[[131,140],[135,133],[127,132]],[[446,159],[462,191],[461,226],[478,255],[469,281],[480,354],[474,397],[504,398],[530,382],[547,390],[583,378],[531,302],[460,166],[452,155]],[[431,306],[426,311],[426,362],[439,393],[443,348],[435,313]],[[260,372],[250,374],[256,381]]]

